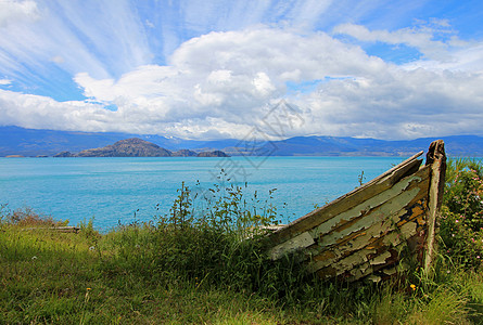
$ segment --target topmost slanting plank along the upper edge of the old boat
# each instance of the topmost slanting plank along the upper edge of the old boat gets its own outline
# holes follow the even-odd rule
[[[422,152],[414,155],[409,159],[403,161],[396,167],[390,169],[372,181],[364,184],[363,186],[339,197],[338,199],[329,203],[325,207],[321,207],[315,211],[307,213],[306,216],[289,223],[288,225],[279,229],[270,235],[270,242],[272,246],[281,244],[292,237],[306,232],[314,226],[325,222],[334,216],[338,216],[354,206],[359,205],[366,199],[380,194],[381,192],[392,187],[404,177],[416,172],[421,165],[421,160],[418,159],[422,155]]]

